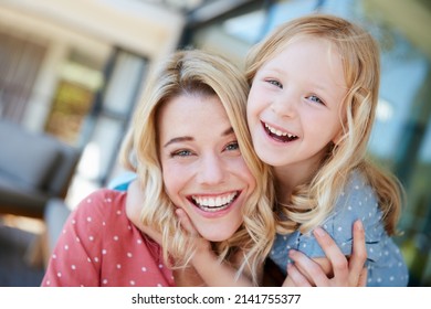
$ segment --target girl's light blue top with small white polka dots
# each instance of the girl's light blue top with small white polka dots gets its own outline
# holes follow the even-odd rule
[[[372,188],[359,172],[354,172],[345,190],[336,202],[333,213],[322,225],[337,243],[345,255],[351,254],[353,224],[360,219],[366,232],[368,283],[370,287],[404,287],[408,284],[408,268],[400,249],[385,231]],[[301,251],[309,257],[325,257],[312,233],[298,231],[277,234],[270,258],[286,275],[291,248]]]

